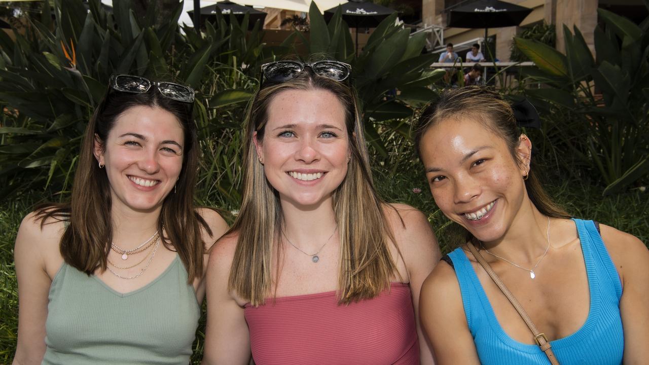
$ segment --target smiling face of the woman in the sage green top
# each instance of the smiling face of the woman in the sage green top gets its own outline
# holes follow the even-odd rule
[[[113,208],[160,209],[182,170],[183,141],[177,118],[163,108],[137,106],[119,115],[103,144],[95,138]]]

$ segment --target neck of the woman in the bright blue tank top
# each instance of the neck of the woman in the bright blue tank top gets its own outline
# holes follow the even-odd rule
[[[482,242],[482,246],[517,264],[535,264],[548,247],[547,232],[548,217],[526,198],[502,238]]]

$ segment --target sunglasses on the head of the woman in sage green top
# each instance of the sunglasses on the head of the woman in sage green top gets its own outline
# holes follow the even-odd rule
[[[110,88],[119,92],[143,94],[149,92],[152,86],[155,86],[162,96],[168,97],[169,99],[182,103],[194,102],[194,89],[189,86],[183,86],[173,82],[153,82],[144,77],[134,75],[112,75],[110,77]]]

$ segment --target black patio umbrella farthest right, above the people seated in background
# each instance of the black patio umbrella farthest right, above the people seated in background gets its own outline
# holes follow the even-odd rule
[[[476,0],[460,3],[448,10],[448,27],[487,29],[519,25],[532,9],[498,0]]]

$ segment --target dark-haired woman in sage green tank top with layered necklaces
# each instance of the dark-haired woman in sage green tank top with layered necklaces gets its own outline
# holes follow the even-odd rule
[[[14,364],[187,364],[207,250],[227,229],[194,205],[193,90],[114,75],[86,127],[69,203],[16,238]]]

